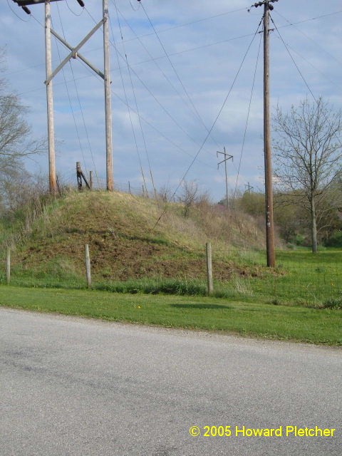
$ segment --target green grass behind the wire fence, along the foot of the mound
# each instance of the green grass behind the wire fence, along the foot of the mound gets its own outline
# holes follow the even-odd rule
[[[282,304],[287,306],[324,306],[327,301],[342,302],[342,252],[327,249],[314,255],[309,249],[278,251],[277,266],[270,270],[264,266],[265,252],[232,250],[227,261],[234,261],[237,272],[227,280],[215,279],[214,296],[233,301]],[[203,269],[205,261],[203,259]],[[84,266],[83,266],[84,269]],[[246,271],[246,274],[244,274]],[[254,272],[255,271],[255,272]],[[5,283],[5,274],[0,274]],[[85,271],[73,274],[68,264],[56,261],[44,271],[22,269],[16,266],[11,275],[15,286],[43,288],[83,289],[86,287]],[[146,277],[130,280],[105,280],[94,274],[93,288],[120,293],[176,294],[205,296],[206,281],[189,279],[179,274],[175,278]]]

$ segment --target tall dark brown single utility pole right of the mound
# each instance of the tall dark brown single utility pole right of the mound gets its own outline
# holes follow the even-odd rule
[[[266,256],[267,266],[276,265],[274,252],[273,179],[271,150],[271,116],[269,103],[269,1],[264,4],[264,160],[266,198]]]

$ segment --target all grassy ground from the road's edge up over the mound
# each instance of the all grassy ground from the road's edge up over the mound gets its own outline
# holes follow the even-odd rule
[[[71,192],[0,220],[0,260],[12,247],[11,286],[0,269],[0,304],[109,320],[229,331],[341,344],[342,251],[276,252],[265,266],[264,234],[254,219],[199,204],[120,192]],[[22,221],[23,222],[23,221]],[[2,224],[1,224],[2,223]],[[205,244],[212,243],[214,294],[208,298]],[[86,289],[84,245],[92,289]],[[279,242],[279,247],[281,242]]]

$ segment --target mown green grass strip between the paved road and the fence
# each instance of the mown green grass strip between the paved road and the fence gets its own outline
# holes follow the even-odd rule
[[[229,301],[201,296],[0,286],[0,305],[15,309],[224,331],[269,339],[342,345],[342,311]]]

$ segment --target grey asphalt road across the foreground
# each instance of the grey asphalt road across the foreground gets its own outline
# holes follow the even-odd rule
[[[9,309],[0,328],[1,456],[342,454],[339,348]]]

